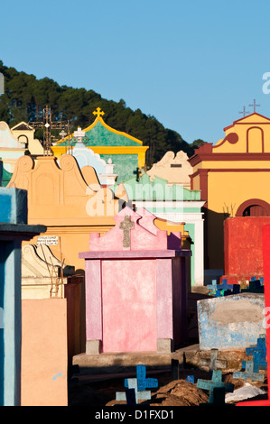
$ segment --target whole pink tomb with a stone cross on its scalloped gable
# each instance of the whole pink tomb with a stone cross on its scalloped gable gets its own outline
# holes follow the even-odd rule
[[[171,352],[186,339],[187,258],[181,234],[125,207],[106,235],[91,234],[86,261],[88,355]],[[114,319],[112,319],[114,317]]]

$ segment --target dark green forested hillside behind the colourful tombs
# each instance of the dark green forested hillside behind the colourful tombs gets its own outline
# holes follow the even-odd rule
[[[123,99],[119,102],[102,98],[93,90],[60,86],[50,78],[37,79],[34,75],[6,67],[0,60],[0,72],[5,78],[5,93],[0,96],[0,121],[10,126],[21,121],[41,121],[42,110],[51,107],[53,121],[70,119],[72,131],[85,128],[95,119],[93,111],[101,107],[105,122],[118,131],[143,141],[148,145],[146,161],[150,166],[160,161],[169,150],[187,152],[191,156],[194,146],[201,140],[187,143],[176,131],[163,127],[152,115],[144,115],[140,109],[133,111]],[[36,137],[42,139],[41,130]]]

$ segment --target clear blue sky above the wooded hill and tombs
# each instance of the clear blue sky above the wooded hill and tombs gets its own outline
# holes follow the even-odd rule
[[[188,143],[216,143],[254,98],[270,117],[268,0],[14,0],[0,14],[5,66],[123,98]]]

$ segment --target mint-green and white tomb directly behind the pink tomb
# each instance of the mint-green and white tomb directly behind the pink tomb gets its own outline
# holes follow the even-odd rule
[[[144,207],[156,217],[155,225],[160,229],[188,232],[191,240],[191,287],[204,284],[204,201],[200,191],[186,189],[181,184],[169,184],[167,179],[144,173],[116,184],[112,189],[117,196],[125,198],[126,204],[135,210]],[[184,234],[182,232],[182,239]]]

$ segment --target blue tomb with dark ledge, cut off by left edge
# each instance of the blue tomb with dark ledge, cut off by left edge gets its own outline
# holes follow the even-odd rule
[[[27,192],[0,188],[0,405],[21,404],[21,247],[44,232],[27,224]]]

